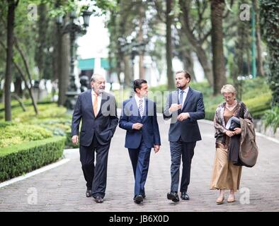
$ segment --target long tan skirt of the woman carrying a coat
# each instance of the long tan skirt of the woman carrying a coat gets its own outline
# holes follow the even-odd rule
[[[228,162],[227,151],[228,149],[224,147],[222,148],[219,146],[216,148],[210,190],[239,190],[242,167],[233,165],[232,161]]]

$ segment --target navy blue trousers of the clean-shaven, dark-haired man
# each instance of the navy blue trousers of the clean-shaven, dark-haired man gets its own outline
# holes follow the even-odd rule
[[[147,148],[144,141],[141,141],[139,148],[128,148],[128,150],[135,177],[135,196],[143,196],[145,195],[144,184],[147,181],[151,148]]]

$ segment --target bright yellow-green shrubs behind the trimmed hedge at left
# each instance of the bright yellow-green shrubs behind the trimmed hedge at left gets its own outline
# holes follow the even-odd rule
[[[53,103],[38,105],[38,109],[40,113],[35,116],[32,106],[26,107],[26,112],[14,107],[13,122],[0,121],[0,147],[69,134],[72,117],[67,109]],[[4,112],[0,112],[0,117],[4,117]]]

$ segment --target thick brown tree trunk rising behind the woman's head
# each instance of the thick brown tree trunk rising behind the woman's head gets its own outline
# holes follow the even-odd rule
[[[212,24],[212,55],[213,55],[213,92],[220,93],[223,85],[227,83],[224,68],[223,52],[223,26],[222,18],[224,12],[224,0],[211,1],[211,24]]]

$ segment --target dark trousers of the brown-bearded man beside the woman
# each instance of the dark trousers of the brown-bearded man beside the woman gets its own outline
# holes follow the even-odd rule
[[[190,167],[194,155],[194,148],[196,142],[183,142],[179,138],[176,142],[170,141],[171,148],[171,191],[178,191],[179,184],[179,168],[182,157],[182,177],[180,191],[187,191],[190,183]]]

